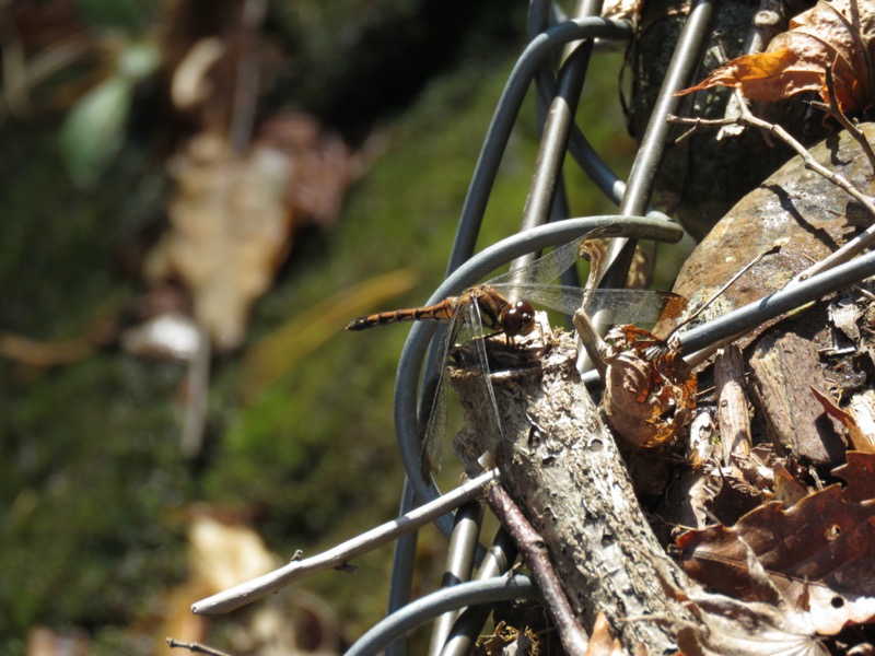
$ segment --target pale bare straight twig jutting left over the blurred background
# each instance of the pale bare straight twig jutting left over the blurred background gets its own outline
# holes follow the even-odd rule
[[[498,480],[498,469],[492,469],[459,485],[440,499],[435,499],[431,503],[401,515],[397,519],[387,522],[351,540],[347,540],[328,551],[303,560],[293,560],[279,570],[236,585],[207,599],[196,601],[191,605],[191,611],[196,614],[230,612],[261,599],[271,593],[276,593],[311,574],[343,566],[349,560],[373,551],[377,547],[429,524],[463,503],[480,496],[487,483]]]

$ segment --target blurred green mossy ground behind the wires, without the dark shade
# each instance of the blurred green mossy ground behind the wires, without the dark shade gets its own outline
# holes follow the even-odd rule
[[[215,362],[196,464],[178,448],[184,365],[138,360],[112,344],[50,368],[0,361],[0,652],[22,654],[35,624],[83,628],[96,653],[129,647],[127,628],[186,576],[182,511],[196,502],[257,508],[259,532],[283,558],[315,553],[393,515],[404,476],[392,390],[406,330],[352,335],[342,323],[326,326],[318,345],[277,353],[290,367],[255,393],[246,353],[384,272],[410,268],[418,277],[387,306],[429,296],[517,51],[509,45],[459,61],[377,129],[382,152],[350,190],[339,224],[296,238],[254,311],[247,345]],[[587,82],[587,94],[605,101],[584,102],[579,118],[622,172],[632,144],[620,136],[619,109],[605,109],[616,105],[620,58],[611,61]],[[166,183],[148,150],[131,145],[97,189],[83,192],[67,181],[50,127],[7,122],[2,138],[0,326],[37,340],[81,336],[142,291],[114,262],[119,245],[161,215]],[[481,245],[516,230],[536,143],[528,104]],[[581,191],[580,175],[570,171],[569,179],[578,215],[609,210]],[[440,540],[423,534],[423,566],[439,566]],[[327,573],[301,587],[326,599],[354,637],[383,612],[389,558],[384,549],[358,562],[353,577]]]

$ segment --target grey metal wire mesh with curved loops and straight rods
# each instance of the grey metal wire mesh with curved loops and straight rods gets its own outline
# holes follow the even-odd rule
[[[711,23],[719,2],[697,0],[691,3],[674,45],[670,63],[646,131],[641,138],[634,165],[625,180],[591,147],[585,136],[586,126],[580,126],[574,120],[587,68],[599,58],[598,52],[593,49],[594,44],[626,44],[633,36],[630,22],[598,17],[600,4],[581,2],[575,15],[564,16],[551,2],[532,0],[529,3],[530,42],[520,56],[497,104],[458,220],[456,238],[447,263],[447,278],[429,303],[459,293],[500,265],[529,257],[541,248],[565,243],[600,225],[612,225],[623,236],[612,242],[612,249],[608,255],[610,266],[602,281],[607,286],[617,286],[626,279],[638,238],[678,238],[674,233],[677,227],[669,223],[669,216],[649,210],[649,203],[656,173],[669,143],[672,126],[666,117],[678,114],[681,99],[677,92],[695,82],[693,74],[702,59],[705,44],[712,36]],[[533,84],[539,115],[544,117],[542,136],[520,233],[475,256],[474,245],[480,232],[502,153],[517,120],[523,99]],[[562,165],[567,155],[587,174],[593,186],[618,207],[615,215],[569,216],[562,184]],[[680,338],[681,348],[686,352],[692,352],[720,342],[873,273],[875,255],[860,257],[687,331]],[[438,343],[440,332],[433,324],[415,325],[398,365],[395,421],[399,453],[407,470],[401,513],[440,495],[434,483],[423,482],[419,475],[422,422],[431,407],[430,395],[434,391],[434,380],[441,366],[435,359],[436,349],[430,349],[429,344]],[[418,385],[420,377],[423,383]],[[584,376],[584,380],[590,384],[598,383],[594,372]],[[395,551],[388,614],[355,643],[350,654],[375,654],[383,648],[386,648],[387,654],[402,654],[405,646],[401,636],[442,613],[450,614],[439,620],[433,629],[431,653],[465,654],[489,612],[482,608],[468,607],[537,596],[536,588],[527,577],[502,576],[514,558],[513,546],[505,534],[499,531],[492,548],[485,554],[479,546],[479,523],[471,519],[469,511],[468,506],[463,506],[455,515],[441,517],[438,524],[443,532],[453,538],[446,557],[447,569],[452,571],[454,563],[470,563],[476,560],[480,564],[477,581],[444,587],[410,602],[416,537],[406,536],[398,541]],[[470,527],[471,523],[474,529]],[[458,617],[454,614],[464,608],[468,610]]]

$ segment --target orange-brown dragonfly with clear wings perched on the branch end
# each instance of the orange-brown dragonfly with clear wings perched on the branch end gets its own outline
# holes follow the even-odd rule
[[[594,233],[560,246],[535,261],[464,290],[434,305],[394,309],[352,319],[347,330],[359,331],[404,321],[447,324],[438,350],[440,376],[431,413],[422,438],[421,476],[428,481],[440,471],[441,448],[446,422],[447,364],[452,347],[460,336],[475,339],[477,367],[485,382],[485,402],[491,406],[498,435],[501,421],[494,391],[489,383],[486,342],[504,336],[508,343],[529,335],[537,326],[535,305],[573,315],[583,309],[607,324],[655,324],[680,317],[687,307],[682,296],[654,290],[598,290],[550,284],[569,270],[585,253],[592,253]],[[487,332],[489,331],[489,332]]]

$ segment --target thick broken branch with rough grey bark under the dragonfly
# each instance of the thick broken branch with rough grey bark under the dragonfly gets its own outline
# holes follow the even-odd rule
[[[561,333],[548,341],[546,353],[516,352],[522,368],[492,374],[502,418],[498,441],[482,437],[494,435],[491,412],[477,402],[482,380],[470,372],[454,375],[466,414],[456,450],[469,471],[479,471],[477,458],[492,450],[502,484],[544,539],[584,626],[592,629],[602,611],[629,652],[639,644],[650,654],[670,651],[673,636],[640,618],[692,617],[666,598],[654,574],[653,560],[666,557],[614,438],[580,382],[572,339]]]

